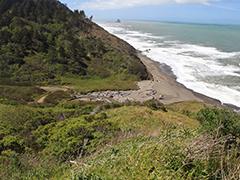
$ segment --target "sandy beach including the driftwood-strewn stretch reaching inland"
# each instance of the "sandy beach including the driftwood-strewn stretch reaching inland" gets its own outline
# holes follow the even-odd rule
[[[220,105],[218,100],[214,100],[202,94],[186,88],[176,81],[175,76],[170,72],[171,68],[151,60],[150,58],[138,54],[148,72],[152,75],[151,80],[138,82],[138,90],[129,91],[103,91],[93,92],[85,95],[76,94],[75,97],[82,101],[136,101],[144,102],[151,99],[159,100],[163,104],[171,104],[182,101],[198,101],[213,105]]]

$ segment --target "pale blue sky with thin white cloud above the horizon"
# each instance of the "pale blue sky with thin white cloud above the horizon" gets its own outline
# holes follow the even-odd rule
[[[240,24],[240,0],[60,0],[94,20]]]

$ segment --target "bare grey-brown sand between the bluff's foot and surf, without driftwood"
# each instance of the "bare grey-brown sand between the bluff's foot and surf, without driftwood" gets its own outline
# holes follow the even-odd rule
[[[172,96],[169,100],[163,99],[162,102],[164,104],[198,101],[216,106],[222,105],[219,100],[197,93],[177,82],[177,77],[174,75],[170,66],[154,61],[140,52],[138,53],[138,57],[148,69],[148,72],[152,74],[153,81],[156,81],[156,89],[161,92],[163,96]]]

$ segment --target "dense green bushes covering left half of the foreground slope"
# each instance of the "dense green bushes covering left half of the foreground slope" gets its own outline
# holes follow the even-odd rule
[[[0,105],[0,153],[37,151],[66,160],[94,151],[118,131],[105,113],[90,115],[96,105],[64,101],[41,108]]]

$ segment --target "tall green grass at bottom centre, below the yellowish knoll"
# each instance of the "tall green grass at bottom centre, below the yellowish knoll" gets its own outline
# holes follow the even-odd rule
[[[81,160],[73,179],[180,179],[184,177],[179,168],[184,163],[181,148],[193,136],[183,132],[172,129],[158,137],[139,136],[107,147]]]

